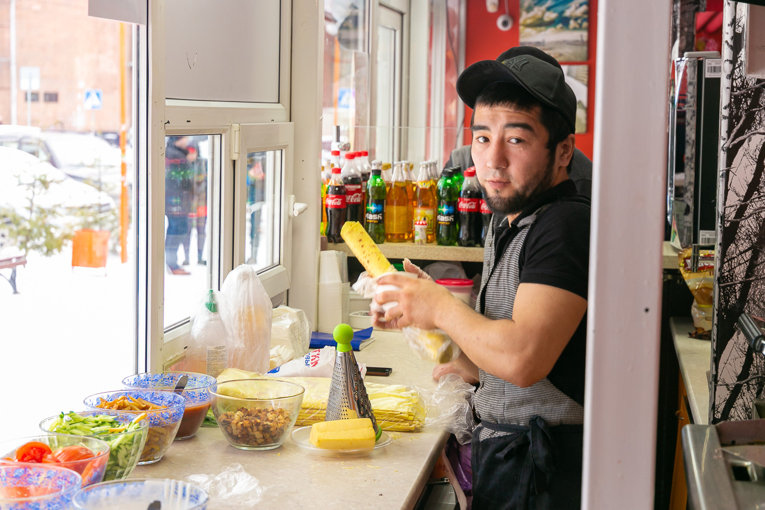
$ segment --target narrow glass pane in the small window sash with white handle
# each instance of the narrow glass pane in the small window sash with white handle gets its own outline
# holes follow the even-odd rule
[[[247,153],[245,260],[258,271],[280,260],[282,157],[282,151]]]

